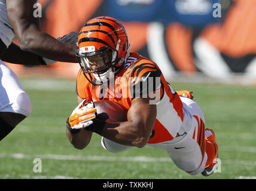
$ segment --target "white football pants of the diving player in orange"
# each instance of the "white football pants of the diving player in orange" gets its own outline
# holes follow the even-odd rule
[[[181,97],[181,101],[191,116],[197,115],[203,122],[205,122],[203,112],[195,101],[184,97]],[[190,129],[190,131],[186,132],[184,136],[173,138],[172,141],[148,145],[166,150],[178,168],[188,172],[190,175],[197,175],[205,169],[207,155],[205,153],[204,158],[202,158],[203,156],[199,144],[197,143],[197,140],[193,139],[193,133],[197,132],[199,128],[196,119],[192,118],[192,123],[188,124],[192,124],[192,126],[191,128],[187,128]],[[115,143],[105,137],[102,137],[101,143],[104,149],[112,153],[123,152],[132,148],[130,146]]]

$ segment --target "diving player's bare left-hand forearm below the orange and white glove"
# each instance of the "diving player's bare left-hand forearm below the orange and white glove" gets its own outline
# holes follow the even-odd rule
[[[78,96],[77,100],[78,104],[80,104],[83,101],[83,98]],[[76,134],[72,134],[68,129],[66,129],[68,140],[76,149],[84,149],[84,147],[90,143],[92,134],[92,131],[86,131],[83,128]]]

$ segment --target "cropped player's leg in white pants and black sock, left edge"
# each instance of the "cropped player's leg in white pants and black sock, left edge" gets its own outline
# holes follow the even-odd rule
[[[4,138],[26,116],[31,114],[31,101],[16,74],[0,60],[0,134]]]

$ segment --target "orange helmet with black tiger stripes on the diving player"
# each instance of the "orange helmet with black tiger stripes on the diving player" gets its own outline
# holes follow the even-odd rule
[[[87,21],[78,36],[77,58],[86,78],[94,85],[108,81],[129,57],[130,45],[123,25],[111,17]],[[89,74],[90,79],[86,75]],[[93,82],[92,73],[99,81]]]

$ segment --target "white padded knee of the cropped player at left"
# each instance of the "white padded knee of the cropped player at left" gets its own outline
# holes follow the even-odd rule
[[[16,113],[29,116],[32,112],[31,100],[27,93],[22,92],[17,95],[16,101],[13,104],[13,109]]]

